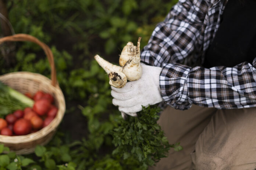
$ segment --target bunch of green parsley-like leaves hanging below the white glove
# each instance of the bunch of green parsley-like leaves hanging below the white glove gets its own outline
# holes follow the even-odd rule
[[[177,144],[169,144],[157,120],[161,110],[156,106],[143,107],[138,117],[128,116],[113,129],[113,143],[117,147],[113,155],[118,155],[125,164],[128,160],[136,160],[141,165],[139,169],[153,166],[161,158],[167,156],[172,147],[175,151],[182,149]]]

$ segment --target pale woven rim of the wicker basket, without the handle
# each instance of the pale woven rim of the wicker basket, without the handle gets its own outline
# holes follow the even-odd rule
[[[65,113],[65,99],[64,99],[63,92],[61,91],[58,84],[56,84],[56,86],[53,86],[51,84],[51,80],[49,78],[47,78],[46,76],[39,74],[39,73],[32,73],[29,71],[15,71],[15,72],[0,75],[0,80],[3,78],[13,77],[13,76],[14,77],[17,76],[20,78],[21,75],[26,75],[27,77],[37,78],[38,81],[42,81],[44,84],[47,84],[47,86],[49,85],[49,86],[51,86],[51,88],[54,88],[55,92],[60,94],[60,96],[58,96],[58,98],[63,100],[63,102],[62,102],[63,106],[62,106],[61,110],[60,110],[60,108],[58,109],[57,116],[53,119],[53,121],[51,121],[51,123],[48,126],[43,127],[42,129],[40,129],[37,132],[30,133],[27,135],[22,135],[22,136],[0,135],[0,143],[22,144],[22,143],[28,143],[33,140],[40,139],[40,138],[46,136],[48,133],[57,129],[57,127],[60,124],[61,120],[63,119],[64,113]],[[39,135],[39,134],[41,134],[41,135]],[[8,142],[6,142],[5,140],[8,140]],[[14,141],[12,142],[11,140],[14,140]],[[17,140],[19,140],[19,142],[17,142]]]

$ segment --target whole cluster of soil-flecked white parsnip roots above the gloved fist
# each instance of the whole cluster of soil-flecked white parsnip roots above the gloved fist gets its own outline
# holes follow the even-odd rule
[[[120,55],[119,64],[116,66],[104,60],[99,55],[95,55],[95,60],[109,74],[109,84],[115,88],[122,88],[129,81],[138,80],[142,75],[141,67],[141,52],[140,52],[141,37],[139,37],[137,46],[132,42],[125,45]]]

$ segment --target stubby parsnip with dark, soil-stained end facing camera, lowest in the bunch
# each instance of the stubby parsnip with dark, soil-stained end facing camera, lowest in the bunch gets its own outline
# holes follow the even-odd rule
[[[127,83],[127,78],[122,72],[110,72],[109,84],[115,88],[122,88]]]

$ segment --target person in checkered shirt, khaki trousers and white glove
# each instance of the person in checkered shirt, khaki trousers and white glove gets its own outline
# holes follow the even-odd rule
[[[112,87],[127,114],[164,101],[170,149],[151,169],[256,168],[256,1],[179,0],[141,52],[143,73]]]

